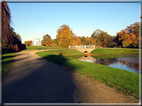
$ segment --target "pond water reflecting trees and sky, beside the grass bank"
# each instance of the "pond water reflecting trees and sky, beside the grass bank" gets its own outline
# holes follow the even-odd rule
[[[139,73],[139,57],[138,55],[134,56],[120,56],[115,58],[103,58],[97,59],[92,56],[83,56],[79,58],[81,61],[92,62],[102,65],[107,65],[109,67],[114,67],[118,69],[123,69],[131,71],[134,73]]]

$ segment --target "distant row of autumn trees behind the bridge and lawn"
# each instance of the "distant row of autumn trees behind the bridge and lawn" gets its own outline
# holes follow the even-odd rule
[[[59,46],[68,48],[69,45],[96,45],[98,47],[139,47],[139,27],[140,23],[127,26],[121,30],[116,36],[111,36],[107,32],[96,29],[91,37],[78,37],[67,25],[62,25],[57,30],[56,39],[51,39],[49,34],[43,36],[43,46]],[[25,41],[26,46],[32,46],[32,41]]]

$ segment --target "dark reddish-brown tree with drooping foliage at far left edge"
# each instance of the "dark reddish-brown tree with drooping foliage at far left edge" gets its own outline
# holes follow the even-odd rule
[[[10,26],[11,13],[6,2],[2,2],[2,49],[3,53],[19,51],[22,48],[21,41],[14,36],[14,29]]]

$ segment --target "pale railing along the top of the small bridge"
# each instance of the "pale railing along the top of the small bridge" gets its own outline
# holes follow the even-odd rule
[[[69,45],[69,49],[95,49],[95,45]]]

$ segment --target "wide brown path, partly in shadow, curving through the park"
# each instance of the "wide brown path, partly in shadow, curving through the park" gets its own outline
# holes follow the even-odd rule
[[[3,103],[138,103],[66,67],[21,51],[3,80]],[[41,50],[40,50],[41,51]]]

